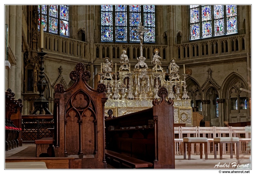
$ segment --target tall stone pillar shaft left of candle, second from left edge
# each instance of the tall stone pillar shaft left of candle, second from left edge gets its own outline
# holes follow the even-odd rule
[[[21,98],[21,67],[22,67],[22,5],[16,5],[16,45],[15,45],[15,97]]]

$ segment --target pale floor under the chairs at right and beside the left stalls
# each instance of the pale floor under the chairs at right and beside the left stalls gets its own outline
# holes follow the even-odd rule
[[[31,153],[22,154],[22,150],[29,148]],[[19,152],[19,153],[18,153]],[[22,147],[14,148],[5,151],[5,158],[34,158],[36,154],[35,144],[23,144]],[[223,155],[223,159],[220,160],[219,155],[217,159],[214,159],[213,154],[208,155],[208,160],[200,159],[199,155],[191,155],[191,160],[183,159],[183,155],[175,155],[175,169],[251,169],[251,155],[240,154],[240,159],[236,159],[236,155],[233,155],[233,159],[230,159],[230,155]],[[227,164],[226,166],[223,166]],[[238,168],[235,165],[244,165],[242,168]],[[221,166],[222,165],[222,166]],[[229,167],[227,167],[229,165]],[[247,167],[248,166],[248,167]],[[108,169],[114,169],[108,165]]]

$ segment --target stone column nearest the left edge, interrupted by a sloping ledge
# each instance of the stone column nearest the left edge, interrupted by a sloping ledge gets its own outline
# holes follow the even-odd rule
[[[9,31],[9,51],[12,51],[13,55],[15,55],[16,5],[10,5],[9,16],[10,16],[9,17],[9,27],[8,27],[8,31]],[[14,67],[14,64],[11,64],[11,68],[8,70],[8,87],[7,88],[10,88],[12,91],[15,92],[15,67]]]

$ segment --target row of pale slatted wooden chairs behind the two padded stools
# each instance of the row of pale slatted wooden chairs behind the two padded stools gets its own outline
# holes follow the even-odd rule
[[[183,138],[184,137],[205,137],[208,138],[208,154],[213,152],[213,138],[216,137],[239,137],[240,149],[239,153],[251,153],[251,126],[246,127],[174,127],[175,136],[175,154],[183,155]],[[227,145],[229,146],[229,144]],[[203,148],[204,149],[204,148]],[[229,153],[229,148],[226,150],[226,145],[223,146],[223,154]],[[236,148],[235,148],[236,149]],[[191,145],[191,154],[198,153],[199,147]],[[203,151],[203,153],[205,153]],[[218,146],[219,154],[219,146]],[[235,150],[236,154],[236,150]]]

